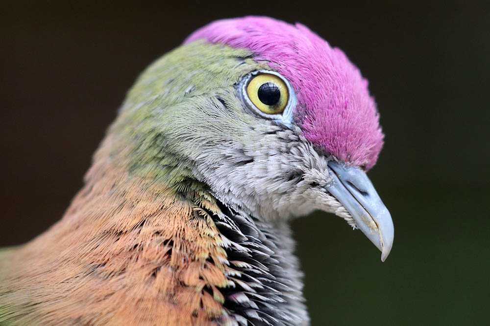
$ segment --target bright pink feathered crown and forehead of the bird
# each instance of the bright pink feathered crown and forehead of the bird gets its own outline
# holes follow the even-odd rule
[[[314,146],[366,170],[376,163],[383,133],[368,81],[342,50],[308,27],[268,17],[226,19],[196,30],[184,43],[205,39],[255,53],[292,84],[295,122]]]

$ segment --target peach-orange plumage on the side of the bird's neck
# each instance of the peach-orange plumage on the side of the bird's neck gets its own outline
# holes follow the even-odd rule
[[[217,287],[229,283],[213,220],[111,167],[108,143],[63,219],[12,257],[9,271],[24,275],[12,296],[41,302],[31,316],[40,324],[211,325],[222,315]]]

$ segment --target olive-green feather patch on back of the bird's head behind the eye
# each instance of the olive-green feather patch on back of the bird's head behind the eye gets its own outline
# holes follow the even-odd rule
[[[268,68],[251,57],[245,49],[197,40],[157,59],[128,91],[108,130],[115,135],[110,156],[131,173],[159,179],[171,187],[190,178],[182,157],[162,150],[172,143],[167,126],[176,114],[186,113],[182,106],[184,110],[196,109],[215,100],[217,92],[233,89],[250,70]],[[199,118],[195,119],[199,123]]]

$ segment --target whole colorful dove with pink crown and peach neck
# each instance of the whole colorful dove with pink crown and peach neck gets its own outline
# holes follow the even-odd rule
[[[367,176],[379,119],[303,24],[197,29],[127,92],[63,217],[0,251],[0,324],[309,325],[293,218],[333,213],[382,261],[392,248]]]

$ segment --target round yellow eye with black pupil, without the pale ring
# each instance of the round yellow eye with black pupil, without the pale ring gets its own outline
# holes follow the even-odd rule
[[[246,93],[257,109],[266,114],[280,114],[288,104],[288,87],[273,74],[253,77],[248,82]]]

